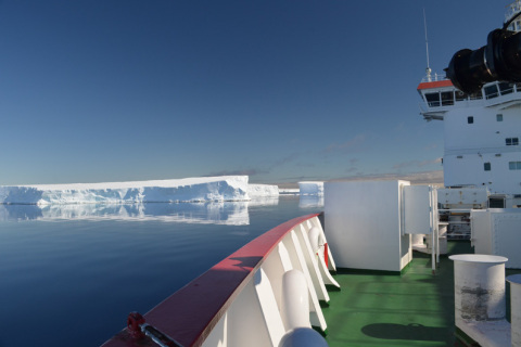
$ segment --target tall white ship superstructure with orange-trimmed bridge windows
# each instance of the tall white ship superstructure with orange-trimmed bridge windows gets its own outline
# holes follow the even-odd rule
[[[518,0],[507,21],[520,11]],[[509,29],[521,30],[521,20]],[[444,185],[484,188],[490,207],[521,205],[521,83],[495,81],[467,94],[428,69],[418,92],[423,118],[444,123]]]

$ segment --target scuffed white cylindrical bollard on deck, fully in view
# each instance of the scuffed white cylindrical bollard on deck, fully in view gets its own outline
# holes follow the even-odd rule
[[[500,256],[460,254],[454,260],[455,318],[488,321],[504,319],[505,262]]]

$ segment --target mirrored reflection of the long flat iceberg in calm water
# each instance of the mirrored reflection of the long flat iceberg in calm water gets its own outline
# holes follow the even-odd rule
[[[250,224],[249,202],[150,203],[128,205],[0,205],[0,221],[38,219],[129,220],[185,223]]]

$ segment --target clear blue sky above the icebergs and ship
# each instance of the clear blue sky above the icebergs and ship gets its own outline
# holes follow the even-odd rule
[[[497,0],[0,1],[0,185],[442,169],[431,67]]]

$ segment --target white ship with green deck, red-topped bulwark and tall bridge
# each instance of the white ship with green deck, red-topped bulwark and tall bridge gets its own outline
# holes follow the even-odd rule
[[[428,67],[417,88],[444,124],[444,188],[326,182],[322,214],[130,312],[102,346],[520,346],[521,82],[459,87]]]

